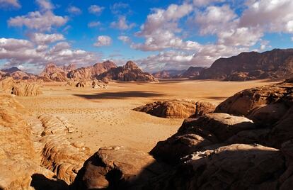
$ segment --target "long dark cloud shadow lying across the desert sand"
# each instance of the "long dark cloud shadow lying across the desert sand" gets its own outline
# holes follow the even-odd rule
[[[154,91],[120,91],[120,92],[103,92],[98,94],[74,94],[84,99],[129,99],[129,98],[149,98],[166,96],[166,94]]]

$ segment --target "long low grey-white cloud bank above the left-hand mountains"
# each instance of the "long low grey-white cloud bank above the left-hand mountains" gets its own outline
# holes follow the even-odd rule
[[[60,42],[49,47],[35,45],[29,40],[0,38],[0,60],[6,60],[9,66],[26,64],[43,67],[47,62],[54,62],[57,65],[64,65],[64,63],[83,65],[92,64],[98,59],[99,56],[93,52],[73,50],[67,42]]]

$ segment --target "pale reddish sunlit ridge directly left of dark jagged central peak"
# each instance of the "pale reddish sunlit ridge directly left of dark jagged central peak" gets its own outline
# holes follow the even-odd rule
[[[79,69],[71,70],[67,74],[70,79],[95,79],[99,74],[107,72],[109,69],[116,68],[114,62],[105,61],[101,63],[96,63],[90,67],[81,67]]]

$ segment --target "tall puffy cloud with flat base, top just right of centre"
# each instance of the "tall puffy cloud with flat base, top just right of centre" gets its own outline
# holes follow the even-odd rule
[[[184,41],[176,36],[181,31],[178,28],[180,18],[193,11],[190,4],[171,4],[166,10],[153,9],[153,13],[146,18],[146,23],[141,26],[137,36],[145,38],[144,43],[131,44],[134,49],[156,51],[166,48],[190,50],[197,47],[193,41]]]

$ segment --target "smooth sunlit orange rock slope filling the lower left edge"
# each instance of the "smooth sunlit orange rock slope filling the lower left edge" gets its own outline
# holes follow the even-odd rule
[[[32,130],[23,114],[25,109],[11,95],[0,95],[0,189],[33,189],[33,174],[54,176],[40,167]]]

